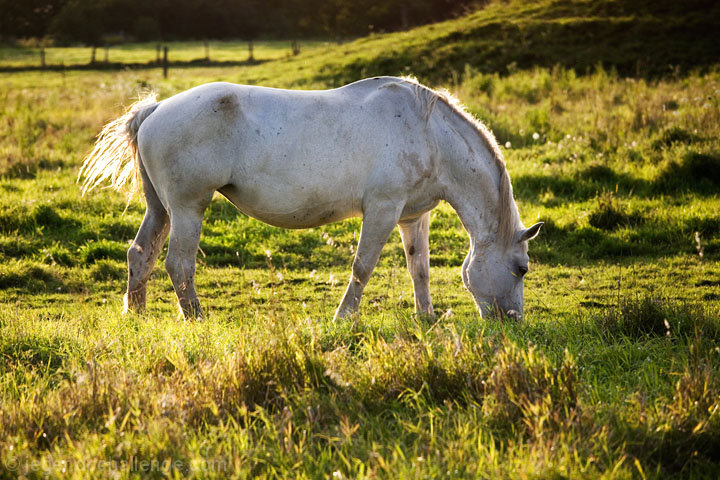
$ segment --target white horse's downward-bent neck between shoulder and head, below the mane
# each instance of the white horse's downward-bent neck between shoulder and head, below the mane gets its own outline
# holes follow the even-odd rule
[[[455,112],[445,118],[448,128],[440,142],[449,183],[445,200],[460,217],[472,248],[497,241],[504,170],[474,125]]]

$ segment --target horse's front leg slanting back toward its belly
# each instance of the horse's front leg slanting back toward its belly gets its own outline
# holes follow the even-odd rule
[[[352,275],[342,302],[335,312],[335,319],[357,312],[365,285],[367,285],[378,258],[380,258],[382,247],[397,225],[399,217],[400,209],[394,204],[369,207],[363,212],[363,223],[353,261]]]

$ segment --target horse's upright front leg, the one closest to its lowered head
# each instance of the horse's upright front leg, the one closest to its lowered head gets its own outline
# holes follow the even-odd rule
[[[415,313],[433,315],[430,300],[430,212],[410,222],[400,222],[405,260],[415,292]]]

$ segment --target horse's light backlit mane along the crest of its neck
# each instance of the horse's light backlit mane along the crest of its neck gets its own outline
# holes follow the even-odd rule
[[[510,174],[507,171],[503,154],[500,146],[495,139],[495,135],[488,129],[484,123],[478,120],[470,113],[465,105],[447,90],[434,90],[426,87],[417,81],[415,77],[402,77],[402,80],[409,83],[414,91],[416,98],[424,107],[425,120],[430,120],[430,115],[435,109],[435,105],[440,100],[445,103],[450,110],[464,118],[480,135],[485,142],[485,146],[495,159],[495,164],[500,171],[499,199],[498,205],[498,237],[505,247],[515,238],[515,232],[520,224],[520,213],[518,212],[515,199],[513,198],[512,185],[510,183]]]

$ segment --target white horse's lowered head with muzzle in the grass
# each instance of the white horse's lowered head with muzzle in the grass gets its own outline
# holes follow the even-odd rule
[[[528,272],[528,241],[540,232],[543,223],[515,234],[510,245],[490,244],[472,248],[465,258],[462,277],[481,315],[499,310],[520,319],[523,313],[523,278]]]

